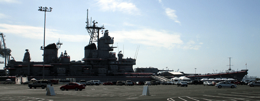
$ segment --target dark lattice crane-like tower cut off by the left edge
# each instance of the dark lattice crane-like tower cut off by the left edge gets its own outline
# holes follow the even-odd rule
[[[11,49],[6,48],[6,42],[5,42],[5,35],[3,33],[0,33],[1,41],[0,41],[0,56],[2,58],[5,58],[5,67],[6,67],[6,62],[10,61],[10,56],[11,56]],[[4,62],[0,62],[3,64]]]

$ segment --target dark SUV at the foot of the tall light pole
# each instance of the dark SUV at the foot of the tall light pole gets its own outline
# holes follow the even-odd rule
[[[33,83],[29,83],[28,87],[32,89],[33,87],[36,89],[37,87],[41,87],[42,89],[46,88],[47,84],[52,86],[52,83],[48,80],[38,80]]]

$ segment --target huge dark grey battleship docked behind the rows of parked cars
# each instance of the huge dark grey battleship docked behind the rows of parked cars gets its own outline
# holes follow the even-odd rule
[[[88,14],[88,13],[87,13]],[[90,23],[92,22],[92,23]],[[114,37],[109,36],[109,31],[103,32],[104,25],[97,26],[98,22],[90,21],[87,15],[86,30],[89,32],[89,44],[84,47],[84,58],[80,61],[71,61],[69,54],[65,51],[58,57],[58,50],[62,42],[51,43],[41,46],[43,50],[43,62],[31,61],[30,52],[25,49],[22,61],[15,61],[11,57],[11,49],[1,46],[0,55],[5,58],[4,70],[0,70],[0,80],[15,80],[18,76],[25,76],[28,80],[35,79],[70,79],[101,80],[104,81],[151,81],[169,80],[172,77],[186,76],[191,80],[202,78],[233,78],[242,80],[248,70],[228,71],[215,74],[185,74],[173,72],[173,70],[158,70],[157,68],[135,68],[136,59],[124,58],[122,51],[116,55],[113,52]],[[102,32],[102,37],[100,37]],[[2,38],[4,40],[3,33]],[[96,42],[96,43],[95,43]]]

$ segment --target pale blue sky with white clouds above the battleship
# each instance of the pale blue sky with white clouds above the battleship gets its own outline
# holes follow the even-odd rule
[[[227,70],[231,57],[231,69],[248,69],[248,76],[260,77],[259,4],[254,0],[0,0],[0,32],[16,61],[22,61],[29,49],[31,61],[42,62],[44,12],[38,9],[51,7],[46,12],[45,46],[60,39],[58,56],[66,50],[71,61],[80,61],[90,40],[85,29],[89,10],[89,19],[104,25],[114,37],[113,46],[118,48],[113,52],[136,59],[133,68],[214,73]]]

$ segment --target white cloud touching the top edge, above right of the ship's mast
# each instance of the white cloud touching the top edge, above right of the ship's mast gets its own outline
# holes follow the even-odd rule
[[[132,3],[117,0],[100,0],[97,4],[102,11],[119,11],[129,15],[140,15],[139,9]]]

